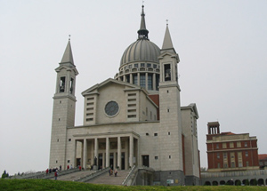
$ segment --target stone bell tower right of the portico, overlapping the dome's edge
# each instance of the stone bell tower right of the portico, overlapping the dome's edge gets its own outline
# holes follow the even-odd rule
[[[161,170],[166,171],[166,177],[168,177],[167,171],[175,171],[175,176],[178,176],[180,181],[183,182],[181,90],[177,76],[177,63],[180,60],[174,50],[168,25],[166,25],[164,42],[158,60],[160,65],[160,82],[158,86],[161,136],[160,157],[161,161],[165,162],[161,163]],[[175,179],[175,177],[173,178]]]

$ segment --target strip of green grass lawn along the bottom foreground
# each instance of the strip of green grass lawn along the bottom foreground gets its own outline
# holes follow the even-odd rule
[[[258,187],[258,186],[190,186],[190,187],[124,187],[124,186],[111,186],[111,185],[94,185],[80,182],[72,181],[61,181],[61,180],[51,180],[51,179],[0,179],[0,190],[32,190],[32,191],[56,191],[56,190],[82,190],[82,191],[105,191],[105,190],[153,190],[153,191],[163,191],[163,190],[188,190],[188,191],[206,191],[206,190],[267,190],[267,187]]]

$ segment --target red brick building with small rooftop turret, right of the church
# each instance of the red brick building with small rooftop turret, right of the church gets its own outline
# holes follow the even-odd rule
[[[220,123],[207,123],[206,153],[208,171],[247,171],[259,169],[256,137],[249,133],[220,132]]]

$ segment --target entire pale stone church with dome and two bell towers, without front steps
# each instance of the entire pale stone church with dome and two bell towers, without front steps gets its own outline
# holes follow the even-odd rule
[[[159,49],[150,42],[143,6],[141,16],[138,39],[115,77],[82,92],[82,126],[75,126],[78,72],[67,44],[55,69],[49,165],[146,168],[152,173],[147,185],[199,185],[198,109],[195,103],[181,107],[180,60],[168,25]]]

